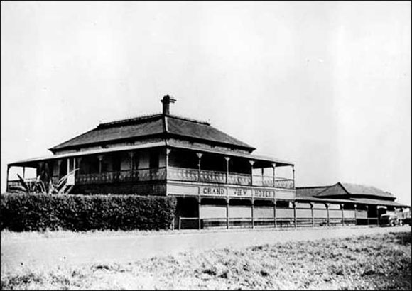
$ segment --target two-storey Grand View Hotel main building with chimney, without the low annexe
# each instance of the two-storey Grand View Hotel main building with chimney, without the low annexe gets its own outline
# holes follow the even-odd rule
[[[50,148],[46,158],[22,160],[10,168],[36,168],[36,177],[68,179],[73,194],[141,194],[178,197],[177,216],[208,219],[273,216],[273,205],[288,205],[296,196],[293,163],[254,155],[254,147],[219,131],[210,123],[163,112],[101,123],[91,131]],[[287,168],[289,177],[276,175]],[[190,223],[190,221],[187,221]]]

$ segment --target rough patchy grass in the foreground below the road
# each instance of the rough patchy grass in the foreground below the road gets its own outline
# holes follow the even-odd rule
[[[411,290],[411,231],[1,274],[1,290]]]

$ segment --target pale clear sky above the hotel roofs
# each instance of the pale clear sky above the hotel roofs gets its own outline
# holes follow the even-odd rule
[[[165,94],[295,163],[297,186],[411,205],[410,1],[1,1],[1,192],[7,163]]]

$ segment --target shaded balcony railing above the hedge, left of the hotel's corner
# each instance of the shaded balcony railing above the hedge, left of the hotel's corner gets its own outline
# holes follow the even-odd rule
[[[76,184],[99,184],[113,182],[139,182],[152,180],[165,180],[166,168],[124,170],[118,172],[102,172],[95,174],[76,175]]]

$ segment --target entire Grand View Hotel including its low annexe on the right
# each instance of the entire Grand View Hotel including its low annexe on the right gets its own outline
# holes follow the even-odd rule
[[[72,194],[177,197],[182,228],[376,224],[379,207],[407,207],[376,188],[376,195],[341,183],[296,188],[293,163],[254,155],[210,123],[170,114],[168,95],[161,102],[161,114],[100,123],[50,148],[53,155],[10,163],[7,191],[19,183],[9,180],[11,168],[23,176],[36,169],[45,182],[77,169],[67,179]]]

